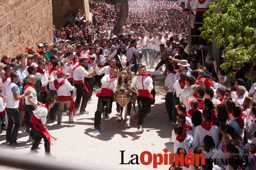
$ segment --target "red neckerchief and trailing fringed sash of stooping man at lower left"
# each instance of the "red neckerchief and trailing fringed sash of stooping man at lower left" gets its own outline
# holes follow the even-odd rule
[[[43,105],[43,104],[42,104]],[[44,106],[39,106],[39,107],[44,107]],[[47,108],[47,109],[49,109],[49,108]],[[48,110],[49,111],[49,110]],[[56,140],[57,140],[57,138],[55,138],[55,137],[53,137],[53,136],[51,136],[50,134],[49,134],[49,132],[46,130],[46,128],[41,124],[41,119],[37,119],[37,117],[33,114],[32,116],[31,116],[31,119],[30,119],[30,122],[31,123],[33,123],[33,127],[37,130],[37,131],[39,131],[39,132],[41,132],[42,134],[44,134],[45,136],[46,136],[46,138],[47,138],[47,140],[48,140],[48,142],[52,145],[53,143],[53,141],[55,142]],[[38,126],[37,126],[38,125]],[[49,152],[50,152],[50,145],[49,145]]]

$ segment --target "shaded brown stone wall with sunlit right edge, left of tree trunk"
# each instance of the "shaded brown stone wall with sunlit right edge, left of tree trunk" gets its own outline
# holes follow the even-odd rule
[[[52,18],[55,28],[64,27],[66,17],[69,12],[73,12],[76,17],[77,9],[81,9],[82,14],[86,14],[86,20],[91,20],[89,16],[89,1],[88,0],[52,0]]]

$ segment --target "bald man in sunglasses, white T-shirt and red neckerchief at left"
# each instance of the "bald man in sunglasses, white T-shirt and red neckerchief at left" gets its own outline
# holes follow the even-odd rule
[[[31,91],[31,94],[25,97],[25,103],[26,103],[25,108],[30,116],[33,115],[33,110],[35,110],[39,105],[42,104],[39,101],[37,101],[36,89],[34,86],[35,84],[36,84],[36,76],[33,74],[29,75],[28,84],[24,87],[24,93],[26,91]],[[35,137],[36,137],[36,133],[31,129],[29,133],[29,140],[31,140],[31,142],[33,143],[35,140]]]

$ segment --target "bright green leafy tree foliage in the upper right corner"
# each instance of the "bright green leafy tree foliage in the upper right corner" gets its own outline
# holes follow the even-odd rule
[[[231,64],[241,68],[243,62],[253,59],[256,65],[256,1],[216,0],[205,12],[201,36],[226,50],[226,63],[220,67],[228,69]],[[234,77],[230,72],[229,76]]]

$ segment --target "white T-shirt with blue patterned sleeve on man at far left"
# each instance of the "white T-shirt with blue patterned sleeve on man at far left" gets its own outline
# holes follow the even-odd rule
[[[8,84],[6,84],[6,104],[7,104],[7,108],[18,108],[19,107],[19,100],[15,101],[13,98],[13,94],[20,94],[19,88],[18,86],[13,83],[13,82],[9,82]]]

